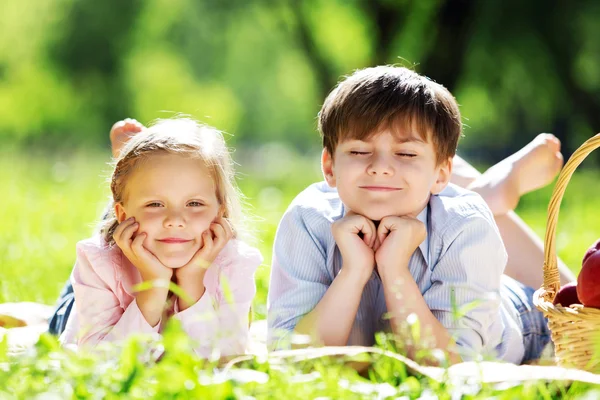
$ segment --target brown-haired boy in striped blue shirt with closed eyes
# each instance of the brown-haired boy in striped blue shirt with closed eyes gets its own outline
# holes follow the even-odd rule
[[[368,346],[415,314],[453,363],[539,357],[549,333],[533,290],[502,276],[483,199],[449,185],[462,131],[450,92],[406,68],[361,70],[325,100],[319,130],[326,182],[293,201],[275,238],[271,346],[293,332]]]

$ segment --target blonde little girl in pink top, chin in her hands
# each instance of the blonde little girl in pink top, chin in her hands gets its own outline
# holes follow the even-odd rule
[[[158,334],[171,316],[200,356],[243,353],[262,257],[237,239],[240,200],[222,134],[188,119],[160,121],[125,145],[110,186],[101,233],[77,244],[76,306],[61,342]],[[187,296],[170,296],[171,281]],[[151,287],[139,290],[142,282]]]

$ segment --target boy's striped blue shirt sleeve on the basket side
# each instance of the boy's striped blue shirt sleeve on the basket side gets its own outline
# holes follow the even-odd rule
[[[461,217],[458,225],[444,235],[451,244],[435,265],[423,297],[453,335],[460,355],[470,360],[488,343],[501,341],[502,332],[492,327],[501,318],[500,281],[507,254],[491,216]]]

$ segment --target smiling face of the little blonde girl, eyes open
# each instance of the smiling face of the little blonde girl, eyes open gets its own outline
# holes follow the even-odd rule
[[[115,206],[118,221],[135,217],[136,234],[147,234],[144,247],[169,268],[192,259],[221,210],[204,161],[177,154],[143,160],[127,179],[123,198]]]

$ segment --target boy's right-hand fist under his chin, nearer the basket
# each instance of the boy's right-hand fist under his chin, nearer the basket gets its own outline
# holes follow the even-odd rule
[[[413,217],[385,217],[379,223],[377,239],[380,243],[375,253],[380,275],[408,266],[410,257],[425,240],[425,225]]]

